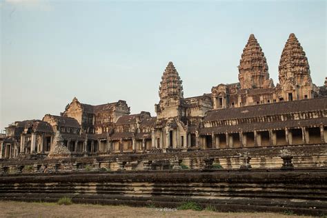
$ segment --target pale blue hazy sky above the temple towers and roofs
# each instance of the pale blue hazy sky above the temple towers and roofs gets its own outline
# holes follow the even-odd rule
[[[308,57],[311,77],[326,74],[326,1],[0,0],[0,130],[59,115],[77,97],[93,105],[125,100],[155,116],[169,61],[184,97],[238,81],[251,33],[270,77],[288,35]]]

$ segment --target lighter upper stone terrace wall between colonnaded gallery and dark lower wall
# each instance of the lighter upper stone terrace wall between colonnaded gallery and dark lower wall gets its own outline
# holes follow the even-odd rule
[[[165,152],[148,154],[117,154],[98,157],[66,159],[7,159],[0,161],[0,173],[25,172],[77,172],[83,170],[164,170],[174,164],[190,169],[206,168],[206,161],[224,169],[239,169],[244,164],[240,155],[251,157],[252,168],[281,168],[281,151],[287,150],[293,157],[295,168],[327,168],[327,146],[285,146],[266,148],[229,148],[195,150],[188,152]]]

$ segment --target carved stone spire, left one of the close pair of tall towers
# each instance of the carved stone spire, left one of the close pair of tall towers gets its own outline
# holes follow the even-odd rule
[[[248,43],[246,43],[243,54],[241,54],[241,60],[239,61],[239,83],[242,89],[268,88],[273,86],[273,81],[269,79],[266,57],[254,34],[250,34]]]

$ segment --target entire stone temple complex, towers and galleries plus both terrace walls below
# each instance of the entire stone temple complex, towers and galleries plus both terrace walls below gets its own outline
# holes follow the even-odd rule
[[[239,82],[184,97],[169,62],[156,117],[74,97],[59,116],[15,121],[0,135],[0,199],[176,206],[190,197],[226,211],[326,215],[327,77],[313,83],[293,33],[279,83],[254,34],[238,70]]]

